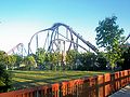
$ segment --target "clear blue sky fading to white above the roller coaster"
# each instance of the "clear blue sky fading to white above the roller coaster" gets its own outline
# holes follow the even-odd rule
[[[99,20],[116,15],[117,25],[130,32],[130,0],[0,0],[0,50],[8,52],[54,23],[70,26],[95,43]]]

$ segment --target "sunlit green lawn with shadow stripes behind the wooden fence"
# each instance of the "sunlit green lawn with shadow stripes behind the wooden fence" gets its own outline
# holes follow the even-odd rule
[[[82,77],[98,75],[106,71],[11,71],[13,73],[13,89],[39,86]]]

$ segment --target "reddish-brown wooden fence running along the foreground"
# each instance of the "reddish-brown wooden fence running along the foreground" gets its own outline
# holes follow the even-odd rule
[[[130,84],[130,70],[1,93],[0,97],[107,97]]]

